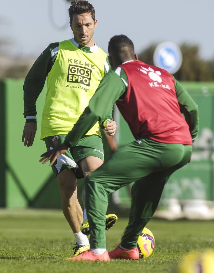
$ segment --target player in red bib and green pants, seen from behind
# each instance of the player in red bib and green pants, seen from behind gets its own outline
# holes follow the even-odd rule
[[[102,79],[65,142],[44,153],[40,160],[45,163],[52,157],[53,164],[97,120],[102,120],[105,107],[115,102],[135,137],[135,141],[117,150],[86,177],[91,248],[71,261],[139,259],[138,236],[152,218],[170,175],[190,162],[198,132],[196,103],[170,73],[138,61],[128,37],[118,35],[110,40],[109,62],[112,71]],[[135,183],[129,223],[121,243],[108,253],[105,242],[108,195],[132,181]]]

